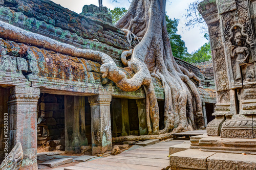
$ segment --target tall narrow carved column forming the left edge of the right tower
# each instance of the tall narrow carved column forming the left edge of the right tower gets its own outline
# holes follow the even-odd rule
[[[209,29],[212,62],[214,65],[214,77],[217,91],[217,104],[215,112],[212,114],[215,115],[216,118],[208,123],[206,130],[207,135],[209,136],[220,136],[221,126],[225,121],[225,114],[229,114],[230,111],[230,97],[227,67],[223,55],[224,47],[219,29],[219,14],[216,3],[207,4],[207,10],[203,3],[199,4],[198,10],[204,17]]]

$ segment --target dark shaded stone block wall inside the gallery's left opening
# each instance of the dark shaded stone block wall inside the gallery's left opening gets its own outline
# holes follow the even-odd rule
[[[43,93],[38,102],[37,144],[65,138],[64,96]],[[65,145],[63,145],[65,147]]]

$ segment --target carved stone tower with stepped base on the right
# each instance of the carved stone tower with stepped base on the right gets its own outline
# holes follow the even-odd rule
[[[256,168],[255,3],[205,0],[199,4],[210,35],[216,118],[207,125],[207,135],[192,137],[190,146],[181,149],[185,151],[170,156],[172,169]]]

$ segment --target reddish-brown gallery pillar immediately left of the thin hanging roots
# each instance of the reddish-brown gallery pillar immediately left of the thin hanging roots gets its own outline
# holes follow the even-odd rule
[[[138,106],[140,135],[147,135],[148,131],[147,131],[147,124],[146,124],[146,100],[137,99],[136,103]]]

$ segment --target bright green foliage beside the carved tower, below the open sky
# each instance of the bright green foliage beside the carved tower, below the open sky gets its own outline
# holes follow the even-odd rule
[[[191,54],[185,61],[190,63],[200,63],[211,60],[210,42],[205,43],[197,51]]]

